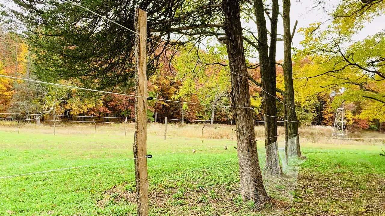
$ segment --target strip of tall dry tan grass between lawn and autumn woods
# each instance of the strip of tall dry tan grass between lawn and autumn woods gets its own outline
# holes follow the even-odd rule
[[[6,131],[17,131],[17,121],[0,121],[0,127]],[[164,137],[165,125],[149,123],[147,133],[149,135]],[[204,139],[226,139],[236,142],[236,126],[221,124],[167,124],[167,137],[201,138],[203,129]],[[39,131],[39,133],[53,134],[53,122],[47,121],[41,125],[22,123],[20,133],[23,131]],[[126,131],[126,132],[125,132]],[[306,126],[300,128],[301,143],[328,143],[331,145],[383,145],[385,135],[377,131],[361,131],[360,133],[348,133],[347,140],[331,139],[333,128],[329,126]],[[94,123],[57,122],[55,126],[57,134],[87,135],[117,135],[127,136],[134,134],[134,123]],[[264,139],[264,126],[255,126],[256,139]],[[278,143],[283,145],[284,128],[278,127]],[[379,139],[383,138],[383,139]]]

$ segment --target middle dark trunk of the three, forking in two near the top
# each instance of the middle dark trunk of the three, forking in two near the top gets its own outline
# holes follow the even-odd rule
[[[270,53],[268,53],[268,40],[266,19],[264,17],[263,0],[254,0],[255,16],[258,28],[258,53],[261,70],[261,84],[263,92],[263,111],[265,119],[265,149],[266,164],[265,170],[269,174],[280,174],[281,167],[278,158],[277,145],[277,107],[275,103],[276,74],[275,74],[275,49],[276,49],[276,28],[278,21],[278,0],[273,0],[271,13],[271,39]]]

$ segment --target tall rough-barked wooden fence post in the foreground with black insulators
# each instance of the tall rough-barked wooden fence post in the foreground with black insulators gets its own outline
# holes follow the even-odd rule
[[[138,216],[148,216],[147,173],[147,13],[135,10],[136,85],[135,85],[135,179]]]

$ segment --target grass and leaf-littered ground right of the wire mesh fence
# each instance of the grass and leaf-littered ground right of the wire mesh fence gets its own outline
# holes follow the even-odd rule
[[[379,155],[381,148],[302,148],[308,159],[301,164],[293,204],[280,216],[385,216],[385,157]]]

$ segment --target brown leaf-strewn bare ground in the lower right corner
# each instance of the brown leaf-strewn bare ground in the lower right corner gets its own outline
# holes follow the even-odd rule
[[[385,216],[385,176],[300,172],[291,206],[280,216]]]

